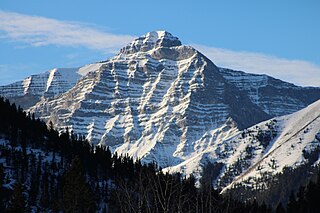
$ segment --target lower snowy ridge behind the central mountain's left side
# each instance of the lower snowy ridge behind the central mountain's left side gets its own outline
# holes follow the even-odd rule
[[[55,68],[45,73],[31,75],[22,81],[0,86],[0,96],[9,98],[24,109],[34,106],[41,98],[52,99],[69,89],[88,72],[95,71],[100,64],[89,64],[81,68]]]

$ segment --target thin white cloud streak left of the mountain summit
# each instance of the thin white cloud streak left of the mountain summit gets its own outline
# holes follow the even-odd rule
[[[33,46],[83,46],[114,52],[131,42],[130,35],[115,35],[83,23],[59,21],[0,10],[0,39]]]

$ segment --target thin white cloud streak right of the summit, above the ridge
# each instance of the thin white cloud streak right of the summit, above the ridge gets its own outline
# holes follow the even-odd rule
[[[193,45],[217,66],[267,74],[302,86],[320,86],[320,66],[303,60],[289,60],[261,53],[236,52]]]

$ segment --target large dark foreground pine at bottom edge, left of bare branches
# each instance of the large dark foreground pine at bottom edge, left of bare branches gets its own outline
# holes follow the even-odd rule
[[[85,181],[81,161],[76,157],[64,177],[63,208],[65,212],[94,212],[93,193]]]

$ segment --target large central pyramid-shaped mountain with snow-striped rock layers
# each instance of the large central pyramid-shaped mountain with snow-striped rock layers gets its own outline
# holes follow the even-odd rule
[[[270,118],[204,55],[168,32],[151,32],[120,50],[69,91],[30,109],[162,167],[199,152],[208,131],[246,128]],[[224,133],[222,133],[224,134]]]

